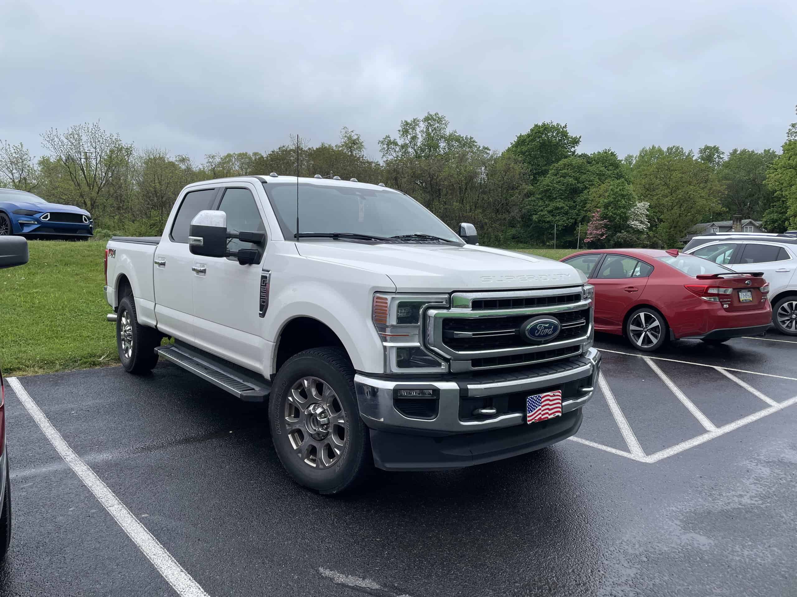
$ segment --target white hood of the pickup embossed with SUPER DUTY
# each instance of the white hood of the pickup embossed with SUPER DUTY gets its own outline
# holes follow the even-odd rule
[[[498,291],[575,286],[575,267],[525,253],[438,244],[296,243],[301,256],[388,275],[402,292]]]

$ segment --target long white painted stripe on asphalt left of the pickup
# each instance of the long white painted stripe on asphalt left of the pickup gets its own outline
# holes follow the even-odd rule
[[[22,406],[26,408],[33,420],[36,421],[41,432],[49,439],[49,443],[53,444],[53,447],[61,455],[61,458],[64,458],[69,468],[77,474],[80,481],[88,487],[88,490],[94,494],[100,504],[108,510],[108,513],[111,514],[116,523],[128,534],[128,537],[138,546],[144,556],[147,556],[147,560],[150,560],[161,576],[167,580],[167,583],[171,584],[171,587],[182,597],[208,597],[202,587],[191,578],[190,574],[171,556],[171,553],[167,552],[159,540],[155,539],[152,533],[139,522],[128,507],[116,497],[116,494],[105,485],[91,467],[83,462],[80,456],[69,447],[69,444],[61,437],[58,430],[53,427],[53,423],[49,422],[45,413],[33,401],[26,389],[22,387],[20,381],[16,377],[7,377],[6,381],[14,390],[19,401],[22,402]]]

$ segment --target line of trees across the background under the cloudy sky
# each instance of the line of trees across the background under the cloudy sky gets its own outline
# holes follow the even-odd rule
[[[379,140],[380,159],[344,127],[334,145],[292,138],[265,153],[197,163],[84,123],[43,133],[37,159],[22,143],[0,143],[0,186],[88,209],[99,236],[159,234],[190,182],[297,171],[384,182],[452,228],[472,222],[481,242],[501,246],[551,246],[556,234],[567,248],[675,247],[698,222],[737,213],[771,232],[797,228],[797,123],[780,152],[651,145],[619,158],[611,149],[579,152],[580,144],[566,124],[544,122],[491,150],[429,113]]]

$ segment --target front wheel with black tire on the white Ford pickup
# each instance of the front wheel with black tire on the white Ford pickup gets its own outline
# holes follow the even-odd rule
[[[371,469],[354,369],[341,349],[304,350],[282,365],[269,400],[269,426],[282,466],[312,490],[340,494]]]

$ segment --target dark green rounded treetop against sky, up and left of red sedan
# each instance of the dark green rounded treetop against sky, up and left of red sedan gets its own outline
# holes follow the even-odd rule
[[[532,184],[544,178],[552,166],[574,156],[581,137],[570,135],[567,124],[549,121],[535,124],[528,133],[517,135],[507,151],[523,160]]]

